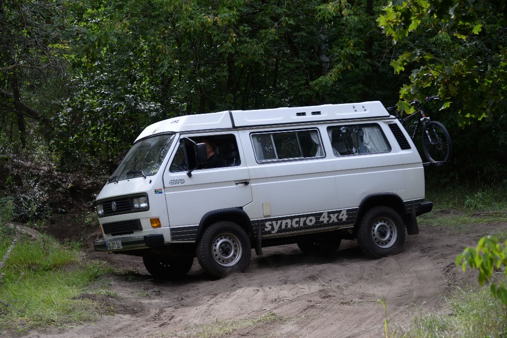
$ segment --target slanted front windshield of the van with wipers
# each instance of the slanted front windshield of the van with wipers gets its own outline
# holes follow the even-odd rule
[[[155,175],[173,140],[174,134],[162,134],[135,143],[108,182]]]

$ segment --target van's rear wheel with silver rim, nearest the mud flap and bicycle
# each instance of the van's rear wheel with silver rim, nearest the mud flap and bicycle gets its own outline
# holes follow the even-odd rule
[[[405,226],[400,214],[386,206],[372,208],[361,219],[357,242],[371,258],[398,253],[405,242]]]

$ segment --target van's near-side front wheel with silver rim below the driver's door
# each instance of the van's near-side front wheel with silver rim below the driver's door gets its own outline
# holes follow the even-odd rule
[[[244,271],[250,265],[251,246],[238,224],[220,221],[211,224],[197,245],[197,260],[214,278]]]

